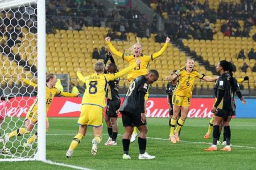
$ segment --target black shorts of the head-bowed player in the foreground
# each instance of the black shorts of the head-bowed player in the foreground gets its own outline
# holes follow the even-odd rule
[[[147,125],[147,122],[142,123],[141,121],[141,113],[130,113],[130,112],[125,112],[122,111],[122,122],[123,126],[142,126],[142,125]]]

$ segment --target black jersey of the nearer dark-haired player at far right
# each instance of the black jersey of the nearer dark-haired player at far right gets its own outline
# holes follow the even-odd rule
[[[217,93],[216,97],[218,97],[219,90],[224,90],[224,96],[222,97],[221,102],[217,108],[225,111],[234,110],[232,89],[230,85],[230,75],[228,73],[222,74],[220,78],[218,78],[215,87],[215,91]]]

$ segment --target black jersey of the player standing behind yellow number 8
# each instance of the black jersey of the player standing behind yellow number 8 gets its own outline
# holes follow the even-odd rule
[[[119,100],[119,94],[118,94],[118,84],[119,84],[120,78],[116,78],[113,81],[108,82],[108,99],[110,100]]]

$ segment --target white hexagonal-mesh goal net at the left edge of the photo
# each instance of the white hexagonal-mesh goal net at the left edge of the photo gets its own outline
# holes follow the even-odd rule
[[[39,54],[45,41],[39,47],[38,10],[35,0],[0,1],[0,161],[35,160],[39,159],[39,154],[45,156],[45,134],[44,142],[39,142],[43,143],[41,149],[37,140],[39,125],[44,128],[40,136],[45,133],[45,113],[43,121],[42,116],[38,116],[34,128],[28,128],[31,124],[26,121],[26,114],[34,102],[40,104],[45,98],[45,88],[42,88],[45,86],[45,69],[40,70],[43,68],[40,65],[45,67],[45,61]],[[31,86],[23,78],[38,84],[38,87]],[[36,138],[33,141],[31,137]],[[44,153],[38,154],[39,150]]]

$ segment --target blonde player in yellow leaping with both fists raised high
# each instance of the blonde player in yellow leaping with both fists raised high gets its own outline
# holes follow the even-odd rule
[[[164,46],[162,47],[162,49],[159,50],[159,52],[156,52],[154,54],[151,54],[149,56],[142,54],[142,45],[137,42],[134,44],[133,46],[133,54],[123,54],[121,52],[118,52],[117,49],[114,48],[114,46],[112,45],[112,43],[110,42],[111,38],[110,37],[106,37],[106,44],[109,46],[110,51],[117,57],[122,58],[124,61],[129,62],[129,66],[132,65],[136,58],[140,58],[141,59],[141,64],[138,65],[137,67],[134,67],[133,70],[131,70],[128,75],[127,75],[127,79],[129,80],[129,82],[131,82],[133,79],[137,78],[137,76],[141,76],[141,75],[145,75],[148,72],[148,65],[151,61],[153,61],[154,59],[160,57],[163,52],[167,49],[167,46],[170,42],[170,39],[167,37],[166,38],[166,43],[164,44]],[[145,95],[145,108],[146,108],[146,103],[148,100],[148,92]],[[131,135],[131,142],[135,141],[135,138],[137,137],[137,128],[134,127],[134,131],[133,134]]]

